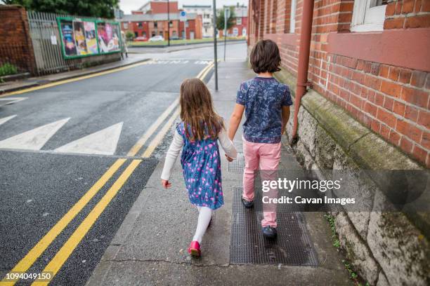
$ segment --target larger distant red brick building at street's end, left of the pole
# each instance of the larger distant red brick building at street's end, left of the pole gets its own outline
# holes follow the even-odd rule
[[[168,28],[167,1],[149,1],[131,15],[123,15],[121,29],[124,32],[133,32],[134,36],[160,35],[167,39],[170,32],[171,39],[202,39],[202,15],[187,13],[186,21],[181,21],[177,1],[169,1]]]

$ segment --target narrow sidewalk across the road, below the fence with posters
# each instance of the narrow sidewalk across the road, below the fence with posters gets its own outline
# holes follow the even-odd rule
[[[19,81],[7,81],[5,83],[0,83],[0,95],[4,93],[11,93],[16,90],[22,90],[24,88],[43,86],[47,83],[52,83],[55,81],[63,81],[65,79],[73,79],[78,76],[96,74],[100,71],[117,69],[118,67],[126,67],[130,64],[136,64],[137,62],[143,62],[145,60],[148,60],[148,57],[142,55],[129,55],[129,57],[125,57],[124,60],[110,62],[107,64],[100,64],[96,67],[89,67],[86,69],[74,69],[72,71],[60,72],[58,74],[48,74],[46,76],[34,76]]]

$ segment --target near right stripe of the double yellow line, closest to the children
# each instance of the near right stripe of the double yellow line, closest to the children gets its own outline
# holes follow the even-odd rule
[[[142,162],[142,160],[133,160],[130,165],[122,172],[117,181],[110,187],[110,189],[105,193],[105,196],[100,199],[97,205],[91,210],[91,212],[86,216],[84,221],[79,224],[78,228],[74,231],[72,236],[65,242],[63,247],[57,252],[56,256],[49,261],[48,265],[44,268],[43,272],[50,272],[54,277],[56,273],[63,266],[65,261],[70,257],[70,254],[74,251],[74,249],[79,245],[82,238],[88,233],[91,229],[91,226],[96,222],[100,214],[102,214],[103,210],[109,205],[112,198],[116,196],[119,189],[122,188],[127,179],[129,179],[130,175],[136,169],[136,167]],[[48,285],[49,281],[34,281],[32,285]]]

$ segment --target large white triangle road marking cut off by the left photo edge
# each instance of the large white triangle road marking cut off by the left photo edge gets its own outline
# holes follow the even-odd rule
[[[40,150],[70,118],[49,123],[0,141],[0,148]]]

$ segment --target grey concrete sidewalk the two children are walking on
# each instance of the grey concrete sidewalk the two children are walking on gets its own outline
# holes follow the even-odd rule
[[[219,91],[211,93],[226,121],[235,104],[240,82],[253,77],[245,62],[219,64]],[[208,83],[214,87],[214,79]],[[228,124],[228,122],[226,122]],[[242,130],[235,144],[242,150]],[[173,186],[160,186],[160,161],[134,203],[87,285],[352,285],[332,246],[322,212],[307,212],[306,228],[318,254],[319,266],[230,264],[233,187],[242,175],[228,172],[221,156],[225,205],[219,209],[202,242],[202,257],[186,252],[197,224],[197,210],[188,202],[179,160],[172,172]],[[294,156],[282,147],[280,168],[299,169]],[[292,246],[294,247],[294,245]]]

